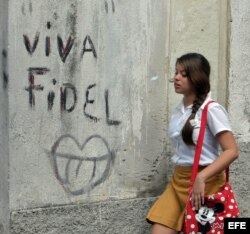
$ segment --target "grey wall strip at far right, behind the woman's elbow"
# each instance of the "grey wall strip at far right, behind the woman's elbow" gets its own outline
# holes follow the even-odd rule
[[[229,113],[241,151],[233,183],[243,217],[250,217],[250,2],[231,1]]]

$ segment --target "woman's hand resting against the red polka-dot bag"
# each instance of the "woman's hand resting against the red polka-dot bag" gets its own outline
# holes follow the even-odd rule
[[[191,201],[192,206],[198,210],[202,204],[204,204],[204,196],[205,196],[205,181],[202,179],[199,174],[196,176],[194,181]]]

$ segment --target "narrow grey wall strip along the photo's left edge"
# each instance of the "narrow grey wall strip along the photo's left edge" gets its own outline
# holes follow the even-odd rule
[[[8,232],[8,2],[0,1],[0,233]]]

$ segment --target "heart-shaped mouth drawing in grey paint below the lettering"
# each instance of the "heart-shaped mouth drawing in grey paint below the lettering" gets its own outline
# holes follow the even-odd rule
[[[52,166],[65,191],[85,194],[109,176],[114,153],[107,141],[90,136],[82,145],[70,134],[62,135],[51,148]]]

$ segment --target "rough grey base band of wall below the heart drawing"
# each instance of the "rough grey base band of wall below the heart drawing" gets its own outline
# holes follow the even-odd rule
[[[145,234],[150,232],[145,216],[151,205],[152,199],[144,198],[17,211],[11,233]]]

